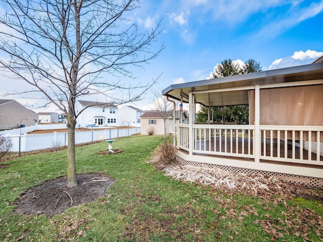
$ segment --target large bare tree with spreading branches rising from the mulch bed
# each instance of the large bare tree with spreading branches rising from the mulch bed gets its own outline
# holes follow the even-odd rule
[[[155,51],[151,49],[160,25],[140,32],[127,17],[137,8],[136,0],[1,1],[7,12],[0,16],[0,64],[31,86],[11,94],[40,93],[45,105],[53,103],[65,112],[67,186],[76,186],[75,126],[83,111],[75,110],[76,99],[104,94],[105,102],[139,100],[155,81],[133,85],[117,78],[134,78],[131,67],[142,67],[164,48],[161,44]],[[111,94],[117,90],[123,94]]]

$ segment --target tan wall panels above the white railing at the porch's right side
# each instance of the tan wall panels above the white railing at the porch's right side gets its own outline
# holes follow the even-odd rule
[[[323,85],[260,89],[260,125],[323,126],[322,103]],[[254,90],[249,110],[253,125]]]

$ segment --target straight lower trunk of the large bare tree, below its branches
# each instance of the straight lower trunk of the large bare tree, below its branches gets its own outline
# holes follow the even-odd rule
[[[72,115],[73,116],[73,115]],[[75,126],[76,120],[68,114],[67,117],[67,186],[77,186],[75,164]]]

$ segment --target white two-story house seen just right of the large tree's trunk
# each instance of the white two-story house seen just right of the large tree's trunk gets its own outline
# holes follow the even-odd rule
[[[75,107],[76,113],[85,108],[76,119],[77,126],[118,126],[118,107],[114,103],[78,100]]]

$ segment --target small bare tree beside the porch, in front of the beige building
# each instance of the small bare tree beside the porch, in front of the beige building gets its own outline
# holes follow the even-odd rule
[[[174,105],[171,101],[167,100],[167,97],[161,95],[161,91],[151,91],[151,102],[153,103],[156,112],[164,120],[164,136],[166,138],[166,119],[169,117]],[[174,117],[176,118],[176,117]]]

